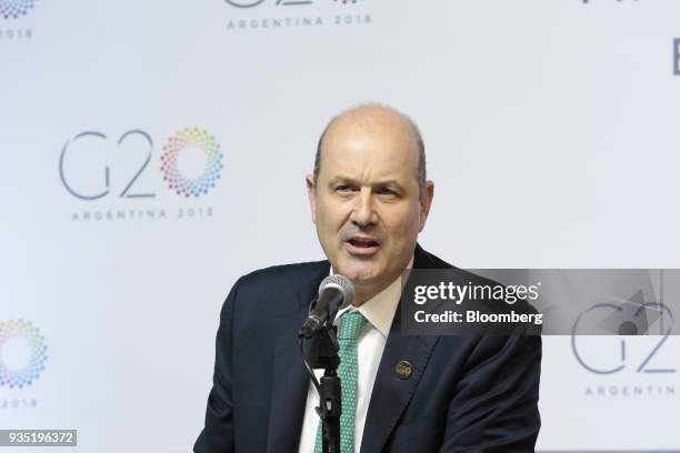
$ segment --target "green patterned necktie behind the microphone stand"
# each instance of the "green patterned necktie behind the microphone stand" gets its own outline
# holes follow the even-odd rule
[[[340,415],[340,452],[354,451],[354,413],[357,412],[357,338],[367,319],[358,311],[346,312],[340,316],[338,343],[340,344],[340,365],[338,375],[342,385],[342,414]],[[314,453],[321,453],[321,420],[317,429]]]

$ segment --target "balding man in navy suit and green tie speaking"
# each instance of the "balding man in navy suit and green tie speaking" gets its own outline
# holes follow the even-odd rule
[[[242,276],[222,308],[197,453],[321,452],[298,330],[330,273],[356,288],[336,316],[341,451],[532,452],[540,336],[402,335],[400,276],[451,265],[417,244],[434,187],[416,124],[369,104],[334,118],[307,177],[328,261]]]

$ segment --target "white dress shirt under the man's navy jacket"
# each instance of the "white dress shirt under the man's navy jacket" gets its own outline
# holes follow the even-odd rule
[[[411,269],[413,259],[408,268]],[[331,270],[332,274],[332,270]],[[360,312],[368,322],[359,333],[357,339],[357,412],[354,415],[354,453],[361,447],[361,439],[363,436],[363,425],[368,413],[369,402],[371,401],[371,392],[378,373],[378,365],[382,351],[390,334],[392,320],[399,299],[401,298],[401,276],[392,282],[388,288],[376,294],[362,303],[359,308],[350,305],[347,309],[340,310],[333,324],[340,322],[340,316],[350,310]],[[314,370],[317,379],[321,379],[323,370]],[[300,435],[299,453],[312,453],[317,441],[317,429],[319,426],[319,415],[314,407],[319,405],[319,394],[317,389],[311,384],[307,392],[307,405],[304,409],[304,421],[302,422],[302,433]]]

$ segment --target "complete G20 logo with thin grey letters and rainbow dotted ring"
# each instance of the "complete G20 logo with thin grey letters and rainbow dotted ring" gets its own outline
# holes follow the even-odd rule
[[[137,188],[153,154],[154,143],[151,135],[133,129],[121,134],[114,143],[113,151],[107,153],[106,145],[110,144],[109,138],[98,131],[81,132],[66,142],[59,155],[59,177],[66,190],[81,200],[99,200],[112,195],[113,180],[116,180],[118,182],[116,185],[122,189],[113,195],[124,199],[156,197],[153,192]],[[74,148],[80,152],[74,151]],[[122,154],[128,148],[138,150],[138,153],[142,154],[142,159],[131,171],[126,172],[119,168],[117,173],[110,162],[100,163],[99,168],[96,168],[88,160],[91,158],[90,154],[99,152],[100,155],[108,157],[109,161],[116,161],[114,154]],[[187,174],[186,169],[182,170],[182,158],[187,154],[198,157],[202,161],[202,167],[192,174]],[[178,195],[199,197],[216,187],[221,178],[223,158],[219,143],[208,131],[187,128],[166,141],[160,157],[160,171],[169,189]],[[77,159],[81,159],[80,165],[73,163]],[[120,159],[118,161],[120,163]],[[71,165],[67,162],[71,162]],[[82,174],[83,169],[88,174]],[[83,183],[83,180],[88,183]]]

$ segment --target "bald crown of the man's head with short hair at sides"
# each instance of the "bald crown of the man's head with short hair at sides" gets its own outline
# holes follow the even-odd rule
[[[426,187],[426,155],[424,144],[418,125],[406,114],[391,107],[370,103],[349,109],[334,117],[326,127],[317,145],[314,158],[314,185],[319,180],[321,171],[321,154],[324,143],[332,140],[336,134],[347,133],[348,130],[356,130],[366,133],[387,133],[397,135],[402,143],[414,153],[418,164],[414,169],[414,177],[418,181],[420,195],[422,197]]]

